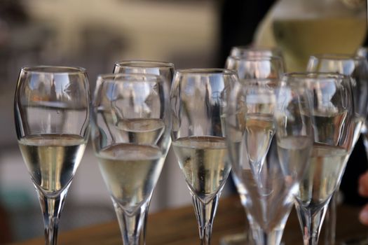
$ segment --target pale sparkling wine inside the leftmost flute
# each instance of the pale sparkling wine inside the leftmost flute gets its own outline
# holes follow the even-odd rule
[[[48,194],[57,194],[73,179],[86,140],[74,134],[38,134],[19,141],[32,181]]]

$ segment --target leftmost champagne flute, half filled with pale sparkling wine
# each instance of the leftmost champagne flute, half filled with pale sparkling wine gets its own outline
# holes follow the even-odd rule
[[[86,70],[26,66],[15,90],[20,152],[36,187],[46,244],[57,243],[60,213],[89,134],[90,92]]]

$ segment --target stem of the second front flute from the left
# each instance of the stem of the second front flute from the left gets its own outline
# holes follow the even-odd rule
[[[118,202],[114,203],[116,216],[120,226],[121,236],[124,245],[145,244],[146,237],[146,218],[148,214],[149,202],[142,204],[137,210],[130,213],[123,209]],[[142,230],[143,229],[143,230]],[[141,232],[142,231],[142,232]]]

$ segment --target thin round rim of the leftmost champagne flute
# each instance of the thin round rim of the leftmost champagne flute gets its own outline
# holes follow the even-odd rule
[[[78,74],[86,73],[86,68],[81,66],[59,66],[59,65],[31,65],[22,66],[24,73],[50,73],[50,74]]]

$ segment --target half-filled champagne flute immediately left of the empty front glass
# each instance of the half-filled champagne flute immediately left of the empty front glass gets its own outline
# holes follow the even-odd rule
[[[231,169],[222,117],[224,99],[238,82],[226,69],[175,72],[170,95],[172,147],[192,196],[200,244],[210,244],[217,203]]]

